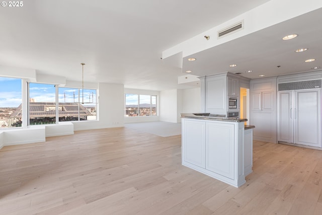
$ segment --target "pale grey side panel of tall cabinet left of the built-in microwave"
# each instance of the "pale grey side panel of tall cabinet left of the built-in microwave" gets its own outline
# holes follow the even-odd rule
[[[182,113],[201,112],[200,88],[185,89],[182,91]]]

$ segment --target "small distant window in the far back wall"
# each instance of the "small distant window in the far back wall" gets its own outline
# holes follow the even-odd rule
[[[125,94],[125,116],[156,116],[156,96]]]

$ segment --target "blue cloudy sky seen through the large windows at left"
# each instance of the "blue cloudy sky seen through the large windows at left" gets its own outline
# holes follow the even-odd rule
[[[0,107],[18,107],[21,104],[21,85],[21,79],[0,77]],[[36,102],[55,102],[55,87],[54,85],[30,83],[29,95],[29,97],[35,99]],[[85,103],[92,102],[93,97],[95,103],[96,90],[84,89]],[[78,102],[78,89],[59,88],[58,98],[59,102]],[[83,94],[81,90],[80,102],[82,102],[82,98]]]

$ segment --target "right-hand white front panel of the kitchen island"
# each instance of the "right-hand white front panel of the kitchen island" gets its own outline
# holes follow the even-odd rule
[[[206,169],[234,179],[234,125],[206,123]]]

